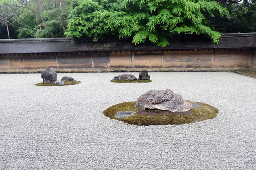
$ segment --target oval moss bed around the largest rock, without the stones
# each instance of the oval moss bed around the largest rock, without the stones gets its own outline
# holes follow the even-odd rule
[[[218,109],[210,106],[209,104],[191,102],[200,104],[200,107],[184,112],[170,112],[163,110],[144,110],[138,111],[134,108],[135,102],[124,102],[109,107],[103,111],[103,114],[111,119],[123,121],[128,124],[134,125],[181,125],[186,123],[194,123],[207,119],[212,119],[217,116]],[[133,116],[128,118],[116,118],[115,115],[118,111],[134,111]]]

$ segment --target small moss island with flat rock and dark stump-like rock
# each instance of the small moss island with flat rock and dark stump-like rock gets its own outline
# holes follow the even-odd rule
[[[140,72],[138,79],[132,74],[121,74],[121,75],[113,77],[111,82],[115,82],[115,83],[143,83],[143,82],[151,82],[151,80],[150,80],[150,76],[148,75],[148,72]]]

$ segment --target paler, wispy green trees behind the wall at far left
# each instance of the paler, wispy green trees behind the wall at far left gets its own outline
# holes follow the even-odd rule
[[[66,6],[66,0],[2,0],[0,26],[4,28],[2,23],[7,20],[18,38],[63,37]]]

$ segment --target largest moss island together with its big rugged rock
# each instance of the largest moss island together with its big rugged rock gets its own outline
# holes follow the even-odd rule
[[[135,125],[184,124],[212,119],[218,109],[208,104],[189,102],[172,90],[149,90],[135,102],[114,105],[103,112],[111,119]]]

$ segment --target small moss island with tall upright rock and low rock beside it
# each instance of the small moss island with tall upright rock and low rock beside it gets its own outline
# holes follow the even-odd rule
[[[50,68],[46,68],[41,73],[41,78],[43,79],[43,83],[37,83],[37,86],[65,86],[65,85],[75,85],[80,83],[80,81],[76,81],[72,77],[64,76],[61,80],[57,80],[57,73]]]

